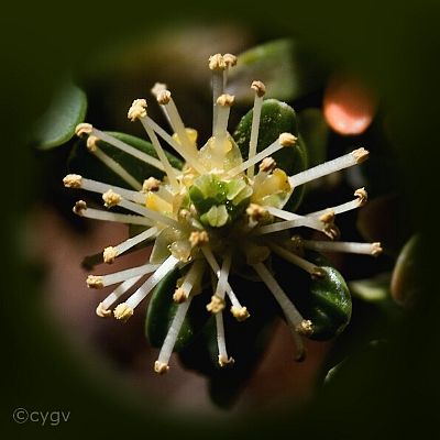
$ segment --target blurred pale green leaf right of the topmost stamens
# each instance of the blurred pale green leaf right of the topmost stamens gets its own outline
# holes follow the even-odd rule
[[[238,56],[231,69],[228,92],[235,100],[253,99],[250,86],[258,79],[266,86],[267,98],[295,100],[318,90],[326,76],[316,55],[295,40],[276,40]]]

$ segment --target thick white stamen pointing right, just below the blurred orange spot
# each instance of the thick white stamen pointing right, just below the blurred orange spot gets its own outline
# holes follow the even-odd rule
[[[364,162],[369,157],[369,152],[365,148],[358,148],[349,154],[317,165],[312,168],[306,169],[289,177],[289,184],[293,188],[304,185],[310,180],[318,179],[328,174],[339,172],[340,169],[348,168]]]

